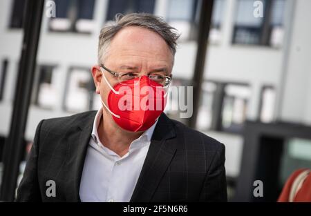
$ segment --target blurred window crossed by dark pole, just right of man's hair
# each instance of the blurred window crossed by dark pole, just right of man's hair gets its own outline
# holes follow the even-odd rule
[[[182,33],[180,39],[196,39],[200,3],[199,0],[170,0],[168,2],[167,21]],[[218,43],[220,40],[220,26],[224,6],[225,0],[214,1],[213,14],[211,15],[211,32],[209,34],[211,43]]]

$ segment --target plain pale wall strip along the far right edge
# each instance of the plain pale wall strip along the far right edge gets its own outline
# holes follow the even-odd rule
[[[280,119],[311,125],[311,1],[295,3]]]

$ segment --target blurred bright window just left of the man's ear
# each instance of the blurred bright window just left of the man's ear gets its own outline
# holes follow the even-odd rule
[[[88,68],[72,68],[68,75],[64,109],[84,112],[93,109],[95,86]]]

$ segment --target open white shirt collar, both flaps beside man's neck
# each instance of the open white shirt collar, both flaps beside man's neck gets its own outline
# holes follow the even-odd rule
[[[92,138],[94,139],[95,143],[97,145],[99,145],[100,147],[103,147],[101,142],[100,142],[100,138],[98,135],[98,131],[97,128],[100,124],[100,118],[102,118],[102,108],[100,108],[100,110],[97,111],[96,115],[95,115],[95,119],[93,122],[93,130],[92,130]],[[151,141],[151,137],[153,135],[153,131],[156,128],[156,124],[158,123],[158,119],[156,120],[156,122],[153,124],[153,126],[151,126],[150,128],[148,128],[148,130],[145,130],[142,135],[140,135],[140,137],[138,137],[138,139],[135,139],[132,141],[131,146],[130,146],[130,150],[133,148],[139,148],[142,147],[144,145],[142,145],[141,143],[147,143],[149,141]]]

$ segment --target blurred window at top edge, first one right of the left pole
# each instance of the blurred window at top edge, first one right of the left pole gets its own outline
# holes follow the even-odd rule
[[[56,17],[49,22],[51,31],[92,32],[95,0],[55,0],[55,4]]]

